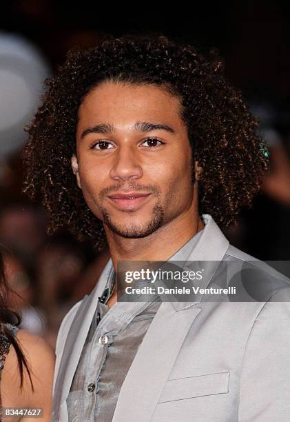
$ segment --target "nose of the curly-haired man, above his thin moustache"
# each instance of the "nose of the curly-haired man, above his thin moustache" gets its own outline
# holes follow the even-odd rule
[[[140,179],[143,175],[141,163],[138,162],[138,152],[130,146],[121,147],[116,153],[110,177],[118,181]]]

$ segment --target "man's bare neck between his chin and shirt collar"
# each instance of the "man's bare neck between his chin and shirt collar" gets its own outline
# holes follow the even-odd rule
[[[196,215],[185,214],[143,238],[125,239],[114,233],[107,234],[114,268],[116,270],[118,261],[167,261],[204,226],[196,212]]]

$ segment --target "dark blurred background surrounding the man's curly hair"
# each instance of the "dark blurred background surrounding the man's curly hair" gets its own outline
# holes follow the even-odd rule
[[[83,0],[3,2],[0,17],[0,247],[10,305],[21,310],[22,328],[54,347],[68,309],[90,293],[107,259],[68,232],[48,237],[47,214],[21,194],[21,149],[43,90],[74,46],[90,47],[107,34],[163,32],[217,48],[226,74],[260,119],[271,172],[253,208],[225,230],[236,247],[262,260],[290,256],[290,12],[287,2],[136,3],[130,8]]]

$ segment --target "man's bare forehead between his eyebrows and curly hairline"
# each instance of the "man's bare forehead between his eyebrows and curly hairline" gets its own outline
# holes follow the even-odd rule
[[[85,130],[107,125],[106,132],[118,126],[145,132],[145,126],[163,125],[177,129],[180,125],[180,100],[155,86],[127,86],[107,83],[94,88],[79,108],[79,124]],[[104,132],[105,130],[103,130]]]

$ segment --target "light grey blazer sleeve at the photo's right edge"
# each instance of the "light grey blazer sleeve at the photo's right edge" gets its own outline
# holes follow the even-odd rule
[[[238,421],[288,421],[289,380],[290,288],[286,288],[265,303],[249,334],[240,378]]]

